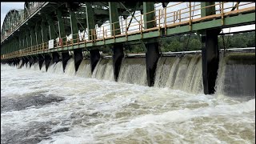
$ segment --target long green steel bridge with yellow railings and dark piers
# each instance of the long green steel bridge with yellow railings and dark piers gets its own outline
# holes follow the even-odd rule
[[[158,39],[197,33],[202,42],[205,94],[214,93],[218,70],[218,34],[223,28],[255,24],[255,2],[25,2],[10,10],[1,32],[1,62],[22,64],[62,61],[74,53],[75,69],[90,52],[93,72],[99,49],[113,50],[117,81],[123,48],[141,44],[146,50],[148,86],[154,85]]]

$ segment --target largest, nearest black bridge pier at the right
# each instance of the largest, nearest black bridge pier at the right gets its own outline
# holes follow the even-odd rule
[[[214,94],[218,75],[218,33],[219,30],[206,30],[202,34],[202,81],[204,94]]]

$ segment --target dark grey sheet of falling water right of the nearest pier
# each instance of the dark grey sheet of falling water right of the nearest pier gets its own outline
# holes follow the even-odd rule
[[[255,53],[220,55],[216,94],[255,98]]]

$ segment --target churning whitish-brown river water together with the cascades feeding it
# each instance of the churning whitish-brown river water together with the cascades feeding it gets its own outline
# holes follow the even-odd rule
[[[124,58],[118,82],[111,59],[94,74],[88,60],[75,73],[70,59],[66,74],[62,62],[48,72],[38,63],[1,65],[1,143],[254,143],[255,89],[240,91],[250,98],[230,97],[235,78],[226,73],[255,77],[255,65],[222,59],[218,92],[205,95],[201,62],[200,54],[162,57],[154,87],[145,86],[143,58]]]

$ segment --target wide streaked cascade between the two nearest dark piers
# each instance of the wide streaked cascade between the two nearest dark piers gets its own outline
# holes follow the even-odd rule
[[[154,86],[202,93],[201,54],[159,58]]]

